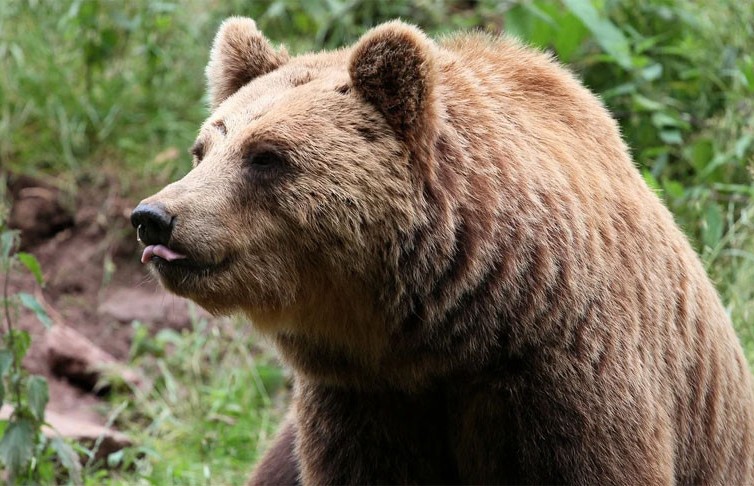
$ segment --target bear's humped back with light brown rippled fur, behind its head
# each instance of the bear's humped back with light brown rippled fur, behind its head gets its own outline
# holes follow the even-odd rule
[[[444,123],[426,192],[442,208],[434,224],[445,229],[433,233],[454,237],[433,282],[409,277],[432,288],[424,302],[436,298],[416,306],[422,318],[473,336],[458,355],[548,347],[564,376],[581,366],[592,384],[628,370],[656,419],[673,424],[662,433],[673,435],[676,471],[690,475],[681,483],[714,478],[706,471],[725,469],[733,451],[754,454],[751,379],[733,327],[615,121],[570,73],[515,41],[464,36],[444,47]],[[751,478],[752,465],[741,467],[731,477]]]

